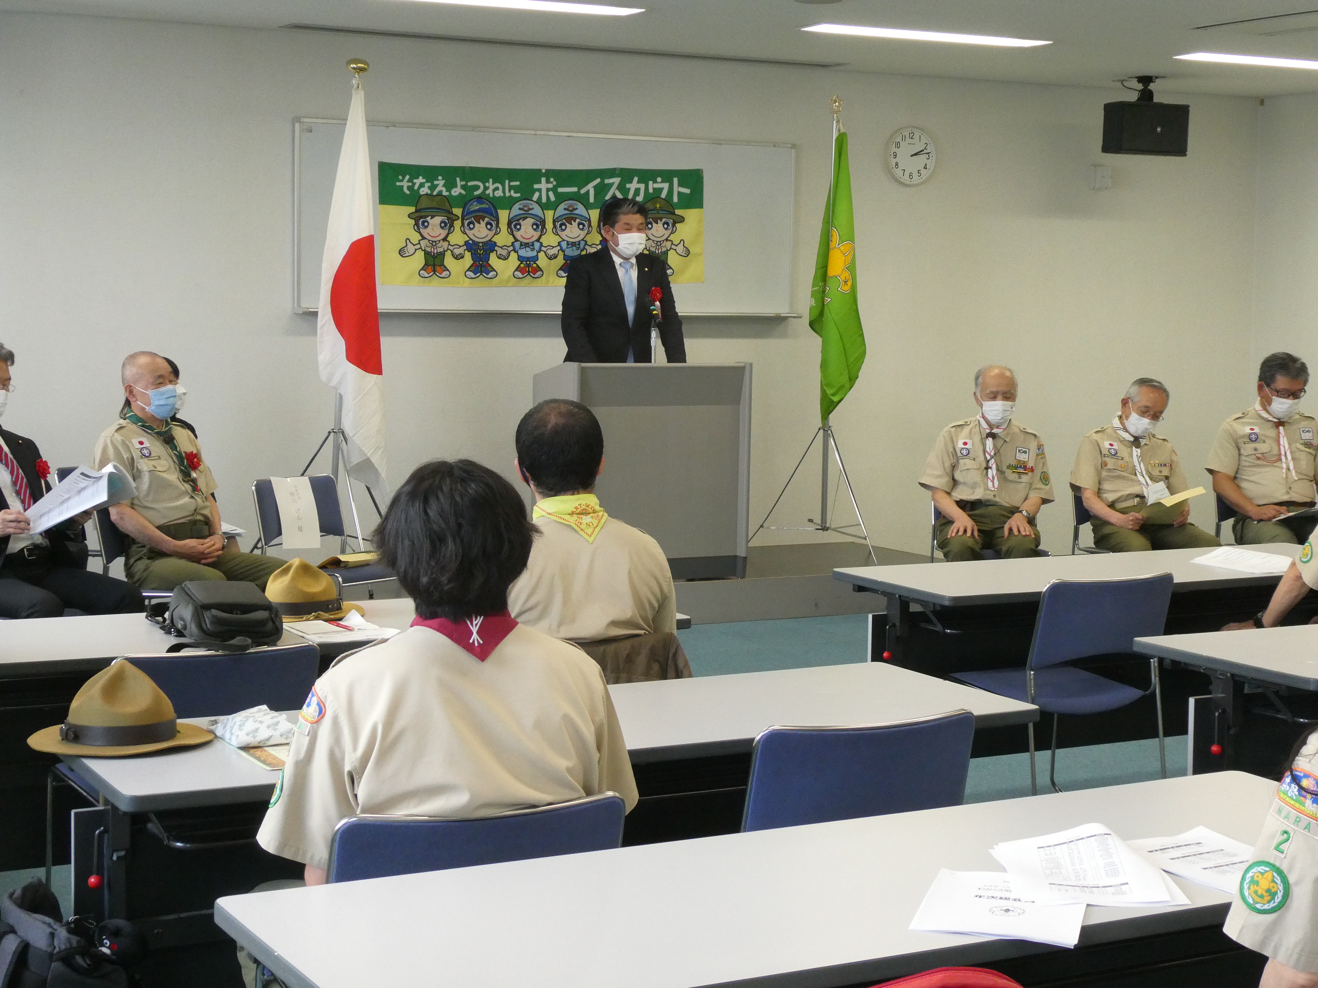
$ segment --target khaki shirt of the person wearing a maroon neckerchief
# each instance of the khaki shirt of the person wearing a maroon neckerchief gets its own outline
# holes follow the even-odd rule
[[[604,673],[523,626],[482,663],[411,627],[340,657],[298,719],[257,842],[327,867],[341,819],[464,819],[637,785]]]

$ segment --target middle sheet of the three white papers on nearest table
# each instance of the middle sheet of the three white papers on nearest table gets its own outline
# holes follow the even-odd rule
[[[1176,884],[1102,823],[1007,840],[990,850],[1023,894],[1089,905],[1186,905]]]

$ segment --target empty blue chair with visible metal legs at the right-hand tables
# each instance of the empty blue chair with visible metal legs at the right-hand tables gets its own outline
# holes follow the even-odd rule
[[[1033,703],[1053,715],[1053,754],[1048,781],[1057,785],[1057,718],[1061,714],[1101,714],[1133,703],[1153,693],[1157,707],[1157,748],[1166,779],[1166,743],[1162,735],[1162,682],[1159,660],[1149,659],[1145,690],[1103,678],[1066,663],[1103,656],[1128,656],[1136,638],[1161,635],[1172,601],[1170,573],[1131,580],[1056,580],[1044,588],[1035,619],[1035,639],[1025,665],[1017,669],[956,672],[952,678],[979,689]],[[1029,725],[1029,790],[1039,793],[1035,776],[1035,725]]]

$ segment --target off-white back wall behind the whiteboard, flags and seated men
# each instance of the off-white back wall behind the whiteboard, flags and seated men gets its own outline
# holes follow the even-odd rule
[[[332,412],[314,317],[290,311],[290,121],[344,115],[348,57],[372,65],[372,120],[795,142],[803,312],[840,92],[870,357],[834,424],[879,544],[927,545],[915,477],[938,429],[970,414],[981,364],[1017,369],[1019,419],[1044,435],[1064,491],[1077,441],[1132,377],[1170,386],[1166,433],[1191,474],[1247,403],[1253,100],[1193,97],[1189,158],[1107,158],[1114,187],[1091,192],[1115,90],[4,13],[7,427],[51,462],[86,460],[115,416],[120,358],[161,350],[183,366],[225,512],[250,524],[252,478],[299,469]],[[938,142],[919,188],[882,166],[903,125]],[[531,375],[563,356],[556,320],[382,328],[391,478],[436,456],[510,472]],[[817,340],[804,320],[691,320],[687,337],[693,361],[755,364],[757,524],[817,424]],[[797,487],[776,520],[817,511],[817,468]],[[1064,499],[1045,544],[1069,531]]]

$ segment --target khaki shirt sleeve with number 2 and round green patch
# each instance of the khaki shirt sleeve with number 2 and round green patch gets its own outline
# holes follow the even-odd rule
[[[1277,786],[1222,930],[1288,967],[1318,972],[1318,734]]]

